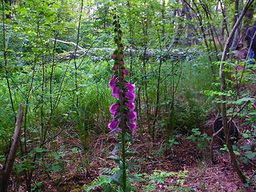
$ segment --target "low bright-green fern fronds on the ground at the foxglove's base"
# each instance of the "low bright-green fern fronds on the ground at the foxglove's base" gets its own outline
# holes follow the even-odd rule
[[[90,185],[83,186],[83,191],[90,192],[98,186],[100,186],[105,192],[122,191],[121,189],[118,189],[109,176],[110,174],[116,173],[118,170],[111,170],[107,168],[99,168],[99,170],[102,172],[102,174],[100,174],[98,178],[95,178]],[[130,180],[130,183],[133,183],[133,190],[130,190],[130,192],[135,192],[138,190],[145,192],[157,191],[159,186],[162,185],[166,185],[166,190],[171,191],[193,191],[193,187],[183,186],[183,184],[186,182],[188,174],[189,172],[186,170],[179,172],[153,170],[152,174],[134,174],[134,179]]]

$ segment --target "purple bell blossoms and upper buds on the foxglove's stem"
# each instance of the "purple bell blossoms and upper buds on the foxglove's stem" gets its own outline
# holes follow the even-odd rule
[[[116,42],[118,44],[118,42]],[[110,106],[110,113],[113,115],[113,120],[108,124],[110,130],[116,131],[126,131],[130,129],[130,131],[134,131],[137,126],[136,122],[133,122],[135,118],[137,118],[137,113],[134,111],[135,104],[135,85],[127,82],[125,77],[129,75],[128,70],[125,68],[125,62],[123,58],[125,55],[123,54],[124,46],[122,43],[118,44],[116,50],[111,55],[111,58],[114,59],[113,70],[115,70],[114,74],[111,77],[109,82],[109,86],[111,89],[111,93],[114,98],[117,98],[118,104],[113,104]],[[114,120],[118,120],[115,122]],[[120,125],[122,122],[122,125]],[[125,128],[124,130],[121,130]]]

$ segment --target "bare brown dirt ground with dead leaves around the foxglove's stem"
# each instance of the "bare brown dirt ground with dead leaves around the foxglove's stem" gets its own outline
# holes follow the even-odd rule
[[[208,126],[210,124],[208,122]],[[134,134],[135,142],[130,145],[131,149],[138,151],[134,157],[130,160],[142,159],[141,162],[136,162],[138,169],[135,171],[138,173],[152,174],[153,170],[162,170],[166,172],[178,172],[180,170],[187,170],[188,174],[185,181],[182,182],[182,189],[180,191],[255,191],[255,186],[245,187],[243,186],[238,175],[230,165],[229,154],[226,151],[220,150],[218,143],[214,146],[214,155],[217,158],[217,162],[210,161],[210,142],[207,143],[206,150],[202,150],[197,146],[197,142],[193,142],[190,139],[186,139],[187,136],[178,138],[178,145],[173,146],[170,150],[162,150],[164,145],[164,139],[157,137],[154,142],[150,142],[144,135],[144,141]],[[59,145],[66,146],[71,149],[72,147],[81,147],[81,143],[78,138],[72,140],[66,140],[58,138]],[[88,165],[90,171],[84,169],[82,174],[82,165],[79,156],[82,152],[71,155],[66,153],[62,156],[64,159],[70,159],[70,162],[65,162],[66,169],[62,172],[55,172],[49,175],[47,178],[38,178],[34,175],[34,182],[42,181],[41,191],[82,191],[82,186],[92,182],[94,178],[101,173],[98,169],[113,168],[115,166],[112,159],[107,158],[109,152],[114,149],[114,146],[118,143],[115,134],[108,134],[105,137],[102,135],[98,138],[92,139],[94,143],[91,145],[91,153],[88,154]],[[71,151],[71,150],[70,150]],[[74,158],[76,158],[74,160]],[[85,157],[83,157],[85,158]],[[238,159],[239,161],[239,159]],[[256,169],[256,159],[252,159],[250,163],[245,164],[239,161],[242,171],[246,176],[255,182],[254,174]],[[80,167],[79,167],[80,166]],[[178,191],[178,190],[166,190],[166,187],[173,186],[175,182],[174,177],[168,177],[164,183],[158,183],[156,190],[154,191]],[[24,191],[25,185],[20,186],[19,191]],[[35,190],[40,191],[40,190]],[[103,191],[100,187],[91,191]],[[141,186],[138,186],[138,191],[144,191]]]

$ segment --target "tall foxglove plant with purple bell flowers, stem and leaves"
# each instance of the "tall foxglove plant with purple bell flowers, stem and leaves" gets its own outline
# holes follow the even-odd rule
[[[114,59],[114,74],[110,79],[110,89],[116,102],[110,106],[110,113],[113,115],[113,120],[108,124],[111,132],[120,131],[121,134],[121,148],[122,158],[114,158],[118,163],[120,170],[112,178],[115,183],[122,187],[123,191],[130,191],[126,186],[126,138],[129,138],[127,133],[132,133],[136,127],[134,119],[137,117],[137,113],[134,111],[134,99],[135,99],[135,85],[127,82],[126,77],[129,75],[128,70],[124,66],[124,46],[122,44],[122,30],[120,29],[120,23],[118,15],[114,15],[114,42],[117,48],[111,55]],[[130,164],[130,163],[129,163]]]

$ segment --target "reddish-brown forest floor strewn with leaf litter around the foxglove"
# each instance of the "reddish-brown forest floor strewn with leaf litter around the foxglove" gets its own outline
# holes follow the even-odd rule
[[[252,87],[255,89],[255,86]],[[212,115],[203,126],[203,132],[210,137],[213,134],[212,126],[215,118]],[[240,119],[236,123],[240,131],[244,133],[248,127],[240,126],[242,122],[243,120]],[[82,142],[76,135],[71,135],[72,138],[70,135],[71,131],[65,130],[55,141],[56,151],[65,151],[58,156],[58,163],[62,166],[62,170],[50,172],[42,178],[41,175],[46,174],[42,174],[42,166],[38,166],[33,182],[40,183],[40,186],[35,187],[34,191],[82,191],[83,186],[90,186],[94,178],[102,174],[99,168],[113,169],[116,166],[113,159],[107,158],[114,146],[118,144],[116,134],[106,134],[106,136],[99,134],[97,137],[90,138],[88,142],[90,148],[86,149],[86,155],[82,153]],[[182,173],[186,176],[176,174],[167,177],[162,183],[151,182],[156,189],[148,191],[256,191],[253,185],[247,187],[243,185],[230,164],[228,152],[220,150],[223,147],[220,142],[215,142],[214,157],[217,161],[213,163],[210,158],[210,141],[206,142],[206,148],[202,150],[198,147],[198,142],[186,139],[189,135],[182,135],[175,140],[178,144],[167,149],[164,145],[165,138],[161,135],[163,134],[158,133],[152,142],[148,134],[140,135],[138,129],[134,130],[132,137],[135,141],[129,147],[138,152],[130,157],[130,160],[137,166],[135,174],[152,175],[154,170],[161,170],[177,173],[183,171]],[[245,142],[245,139],[241,139],[237,145],[241,146]],[[239,157],[237,159],[243,173],[255,184],[256,158],[251,159],[249,163],[242,162]],[[18,191],[25,191],[24,178],[20,179],[23,184],[18,187]],[[134,182],[134,184],[138,186],[138,192],[145,191],[141,183]],[[150,185],[150,183],[145,182],[145,185]],[[177,190],[167,190],[168,186],[174,186]],[[96,187],[91,191],[103,190]]]

